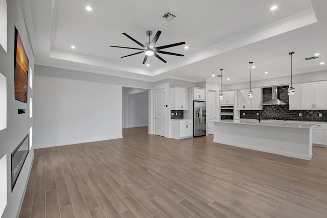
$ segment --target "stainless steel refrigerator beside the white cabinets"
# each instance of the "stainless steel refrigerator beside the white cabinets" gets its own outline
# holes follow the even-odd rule
[[[193,136],[206,134],[205,125],[205,102],[193,102]]]

